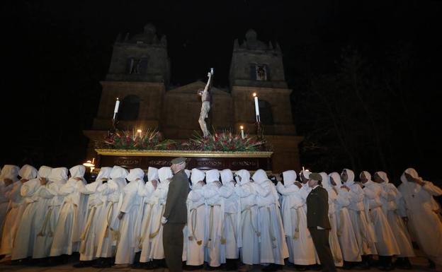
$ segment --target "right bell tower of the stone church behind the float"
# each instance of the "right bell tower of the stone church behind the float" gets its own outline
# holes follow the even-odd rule
[[[273,146],[273,169],[299,167],[298,143],[290,104],[290,93],[285,82],[283,54],[278,43],[273,46],[260,41],[255,30],[248,30],[243,42],[234,40],[229,72],[233,102],[234,127],[245,126],[255,133],[253,94],[259,98],[259,112],[263,134]]]

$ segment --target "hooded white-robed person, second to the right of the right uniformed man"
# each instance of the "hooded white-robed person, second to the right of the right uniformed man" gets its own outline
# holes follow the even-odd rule
[[[338,192],[336,199],[334,199],[334,218],[336,218],[336,235],[341,245],[342,258],[344,261],[361,261],[358,240],[356,240],[348,212],[350,194],[346,189],[341,188],[341,177],[337,172],[332,172],[329,177],[333,178],[336,183],[334,189]]]

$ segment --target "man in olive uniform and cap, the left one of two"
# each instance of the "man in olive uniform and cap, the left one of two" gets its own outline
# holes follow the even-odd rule
[[[162,218],[163,247],[166,264],[171,272],[181,272],[183,256],[183,227],[187,222],[186,199],[188,179],[184,169],[186,158],[175,158],[171,161],[174,172],[167,192],[166,208]]]

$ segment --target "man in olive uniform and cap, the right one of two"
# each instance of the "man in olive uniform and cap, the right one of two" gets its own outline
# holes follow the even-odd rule
[[[321,175],[312,173],[309,176],[308,185],[312,189],[307,196],[307,227],[312,235],[312,240],[322,271],[335,272],[333,255],[329,245],[329,195],[327,190],[320,186]]]

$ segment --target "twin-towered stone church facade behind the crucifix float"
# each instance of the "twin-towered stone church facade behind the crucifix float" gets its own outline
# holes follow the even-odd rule
[[[216,73],[216,68],[215,68]],[[158,37],[154,25],[144,32],[115,41],[111,65],[100,105],[89,137],[88,158],[96,157],[94,141],[111,128],[116,97],[119,98],[119,129],[158,129],[164,138],[181,140],[201,134],[198,124],[201,101],[197,91],[205,87],[196,81],[171,88],[170,59],[166,37]],[[259,97],[263,134],[273,146],[273,172],[300,169],[290,90],[285,82],[283,56],[278,43],[273,47],[261,42],[254,30],[246,32],[243,42],[234,40],[229,71],[229,90],[212,87],[208,127],[237,133],[239,126],[254,134],[253,94]],[[211,129],[210,129],[211,131]]]

